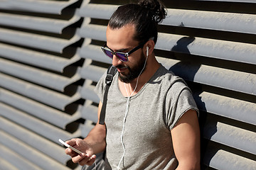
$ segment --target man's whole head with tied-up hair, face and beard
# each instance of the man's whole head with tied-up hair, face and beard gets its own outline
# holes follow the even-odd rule
[[[121,81],[129,83],[141,74],[146,62],[146,46],[153,51],[157,25],[165,16],[164,6],[156,0],[119,6],[113,13],[107,26],[106,47],[112,51],[112,64],[117,67]],[[128,52],[129,59],[122,58],[118,52]]]

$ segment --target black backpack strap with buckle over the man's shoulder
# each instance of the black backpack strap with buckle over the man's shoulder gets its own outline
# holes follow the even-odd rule
[[[105,79],[105,83],[106,83],[106,89],[105,89],[105,94],[103,97],[103,103],[102,103],[102,109],[100,111],[100,125],[104,125],[105,123],[105,114],[106,114],[106,106],[107,106],[107,93],[110,89],[110,85],[112,83],[114,74],[116,74],[117,72],[117,68],[114,66],[110,66],[107,69],[107,77]]]

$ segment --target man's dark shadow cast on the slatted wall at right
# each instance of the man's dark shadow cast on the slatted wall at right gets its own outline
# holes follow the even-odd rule
[[[198,109],[200,110],[199,124],[201,129],[201,164],[209,164],[209,162],[204,159],[206,147],[208,146],[208,140],[203,139],[203,133],[205,132],[204,127],[208,113],[206,104],[202,101],[200,96],[200,94],[203,92],[202,86],[201,84],[193,83],[195,81],[196,73],[201,67],[201,62],[196,62],[194,59],[195,57],[193,57],[191,52],[188,50],[188,45],[190,45],[194,40],[196,40],[194,37],[183,37],[176,42],[176,45],[171,48],[171,52],[176,52],[176,59],[180,60],[181,62],[174,64],[171,68],[169,68],[169,70],[174,72],[174,74],[176,74],[178,77],[183,78],[193,92],[193,98],[195,99]],[[217,131],[217,127],[214,128],[214,131]],[[215,132],[211,133],[214,134]],[[210,157],[213,157],[213,155]]]

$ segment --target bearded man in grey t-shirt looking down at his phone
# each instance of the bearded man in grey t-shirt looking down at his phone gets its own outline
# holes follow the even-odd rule
[[[105,169],[200,169],[196,103],[185,82],[157,62],[157,24],[166,16],[156,0],[117,8],[103,52],[117,68],[108,92],[105,125],[67,143],[73,162],[92,165],[106,149]],[[102,108],[105,77],[95,91]]]

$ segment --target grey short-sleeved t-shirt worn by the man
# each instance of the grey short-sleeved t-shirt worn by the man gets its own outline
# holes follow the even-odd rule
[[[106,73],[95,91],[103,101]],[[123,154],[121,134],[127,97],[119,90],[118,73],[108,93],[105,169],[117,169]],[[198,112],[190,89],[183,79],[162,65],[142,89],[129,100],[124,124],[122,169],[176,169],[170,130],[189,109]]]

